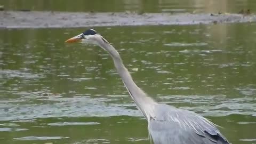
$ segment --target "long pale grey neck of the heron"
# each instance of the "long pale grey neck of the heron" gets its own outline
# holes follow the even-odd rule
[[[123,61],[119,55],[119,53],[116,51],[116,49],[106,43],[101,42],[99,45],[109,52],[111,57],[113,58],[117,73],[119,76],[121,76],[123,83],[131,95],[132,99],[136,103],[138,109],[141,111],[141,113],[144,115],[144,117],[149,121],[150,114],[153,112],[153,107],[155,106],[156,102],[147,96],[145,92],[143,92],[133,81],[132,76],[130,75],[127,68],[125,68]]]

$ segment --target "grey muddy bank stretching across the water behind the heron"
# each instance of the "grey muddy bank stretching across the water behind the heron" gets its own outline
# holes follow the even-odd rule
[[[169,13],[82,13],[1,11],[0,28],[71,28],[95,26],[195,25],[254,22],[256,15]]]

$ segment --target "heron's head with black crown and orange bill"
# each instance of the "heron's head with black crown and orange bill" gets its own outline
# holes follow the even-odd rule
[[[87,29],[84,33],[69,38],[66,43],[82,42],[99,45],[102,41],[105,42],[106,39],[104,39],[100,34],[97,34],[94,29]]]

